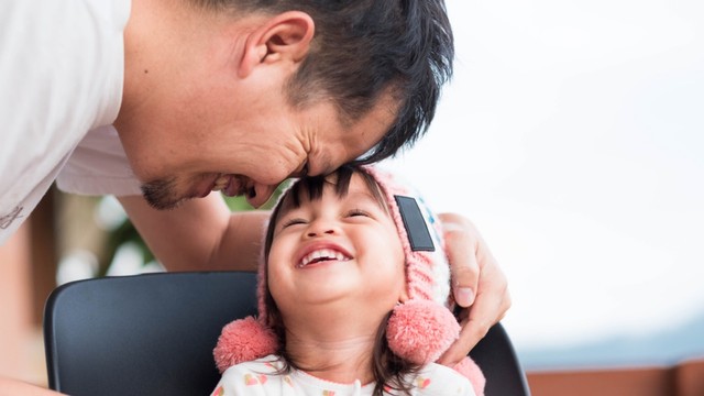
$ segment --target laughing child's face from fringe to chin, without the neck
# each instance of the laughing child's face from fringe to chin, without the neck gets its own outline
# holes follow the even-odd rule
[[[385,315],[407,299],[398,231],[359,175],[344,197],[330,182],[321,198],[304,195],[299,208],[282,210],[268,255],[272,296],[284,317],[333,301]]]

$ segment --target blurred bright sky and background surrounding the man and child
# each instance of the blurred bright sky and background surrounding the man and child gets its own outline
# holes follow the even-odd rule
[[[534,395],[703,395],[704,3],[447,3],[454,79],[385,166],[477,226]],[[114,198],[55,190],[0,263],[0,374],[36,383],[56,283],[161,271]]]

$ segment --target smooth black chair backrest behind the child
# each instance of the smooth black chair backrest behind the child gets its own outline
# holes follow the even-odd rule
[[[207,395],[222,327],[256,312],[256,274],[158,273],[78,280],[44,312],[48,384],[72,396]],[[528,395],[501,324],[472,351],[486,395]]]

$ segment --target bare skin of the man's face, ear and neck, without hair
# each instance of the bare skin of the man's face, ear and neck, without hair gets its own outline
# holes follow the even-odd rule
[[[397,103],[389,94],[351,125],[328,101],[300,109],[288,103],[283,86],[315,32],[307,14],[233,22],[217,14],[204,21],[178,7],[141,9],[154,3],[135,3],[128,24],[127,57],[134,62],[127,63],[114,125],[156,208],[202,197],[220,177],[228,195],[246,195],[261,206],[286,177],[304,169],[326,174],[391,128]],[[164,40],[179,45],[143,40],[143,30],[168,32]],[[179,85],[169,84],[175,80]]]

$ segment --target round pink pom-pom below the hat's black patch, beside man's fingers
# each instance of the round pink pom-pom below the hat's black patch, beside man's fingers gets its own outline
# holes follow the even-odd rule
[[[446,307],[409,300],[394,308],[386,328],[388,346],[413,363],[435,362],[460,337],[460,324]]]

